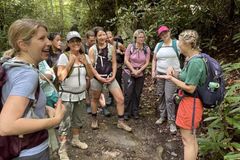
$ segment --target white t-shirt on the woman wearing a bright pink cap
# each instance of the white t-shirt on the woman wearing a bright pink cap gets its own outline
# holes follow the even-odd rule
[[[158,45],[156,45],[154,49],[154,54],[156,54],[157,59],[157,72],[166,73],[169,66],[172,66],[175,71],[181,71],[177,54],[172,46],[165,46],[165,44],[163,44],[158,52],[157,48]]]

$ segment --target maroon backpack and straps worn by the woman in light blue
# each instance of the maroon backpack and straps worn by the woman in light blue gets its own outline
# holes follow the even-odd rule
[[[8,63],[10,67],[20,67],[27,65],[24,62],[7,62],[6,59],[0,60],[0,96],[2,97],[2,87],[7,80],[7,74],[3,68],[3,63]],[[29,65],[29,64],[28,64]],[[38,85],[37,91],[35,92],[35,97],[38,99],[40,91],[40,85]],[[0,97],[0,98],[1,98]],[[30,117],[32,113],[32,104],[34,102],[30,101],[22,117]],[[2,110],[3,103],[0,100],[0,111]],[[18,157],[20,152],[24,149],[33,148],[48,138],[47,130],[43,129],[34,133],[24,134],[24,135],[12,135],[12,136],[0,136],[0,159],[13,159]]]

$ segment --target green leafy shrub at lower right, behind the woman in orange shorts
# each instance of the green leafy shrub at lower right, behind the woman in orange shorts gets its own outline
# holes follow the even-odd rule
[[[240,69],[239,63],[223,66],[226,77]],[[205,159],[233,160],[240,158],[240,84],[227,87],[224,102],[216,109],[206,112],[206,133],[199,138],[200,155]]]

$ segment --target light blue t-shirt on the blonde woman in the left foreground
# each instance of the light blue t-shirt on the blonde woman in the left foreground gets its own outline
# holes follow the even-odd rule
[[[8,65],[4,65],[7,73],[7,81],[2,88],[2,102],[7,100],[8,96],[21,96],[27,97],[31,100],[35,100],[35,92],[37,91],[38,83],[39,83],[39,75],[38,72],[33,70],[30,66],[21,66],[21,67],[9,67]],[[34,109],[34,113],[40,117],[45,117],[45,106],[46,106],[46,97],[40,88],[38,101],[36,102],[36,106]],[[16,106],[18,107],[18,106]],[[48,147],[48,140],[45,140],[40,145],[31,148],[25,149],[21,151],[21,156],[30,156],[33,154],[38,154],[45,150]]]

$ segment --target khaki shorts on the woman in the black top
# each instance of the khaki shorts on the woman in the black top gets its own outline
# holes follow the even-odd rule
[[[109,89],[109,91],[112,91],[116,88],[120,88],[118,82],[116,79],[114,79],[112,81],[112,83],[107,84],[107,88]],[[103,84],[101,82],[99,82],[98,80],[96,80],[95,78],[91,79],[91,86],[90,86],[91,90],[94,91],[103,91]]]

